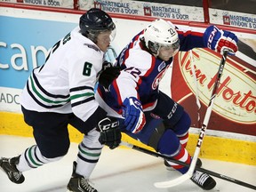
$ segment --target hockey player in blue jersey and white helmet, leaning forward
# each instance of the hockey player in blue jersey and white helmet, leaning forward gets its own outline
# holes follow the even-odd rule
[[[165,20],[154,20],[117,57],[115,66],[121,69],[120,75],[113,80],[102,73],[96,100],[108,116],[119,118],[122,132],[161,154],[189,164],[191,156],[185,147],[190,117],[179,103],[158,89],[158,84],[177,52],[208,47],[216,52],[228,48],[235,54],[236,42],[234,33],[215,26],[202,33],[179,29]],[[166,161],[165,165],[181,173],[188,171],[187,167],[172,162]],[[203,172],[196,171],[191,180],[205,190],[216,185]]]

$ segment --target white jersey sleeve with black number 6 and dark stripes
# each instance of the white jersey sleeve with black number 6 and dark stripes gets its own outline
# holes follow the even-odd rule
[[[81,56],[84,52],[90,57]],[[106,116],[94,98],[96,76],[102,67],[103,55],[90,49],[84,52],[79,52],[76,58],[69,59],[73,60],[68,66],[71,108],[73,113],[84,122],[95,112],[95,121],[97,121],[102,119],[102,116]]]

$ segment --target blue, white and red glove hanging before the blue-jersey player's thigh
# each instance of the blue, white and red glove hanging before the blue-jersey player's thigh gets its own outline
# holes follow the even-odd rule
[[[140,100],[134,97],[124,100],[123,116],[124,126],[127,131],[138,133],[146,124],[146,117],[143,113]]]

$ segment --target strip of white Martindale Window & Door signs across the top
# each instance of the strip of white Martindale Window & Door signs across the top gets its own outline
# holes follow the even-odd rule
[[[96,7],[111,13],[196,22],[204,22],[204,17],[208,16],[208,14],[204,12],[202,6],[172,4],[172,1],[166,1],[165,4],[150,1],[128,0],[79,0],[77,2],[73,0],[0,0],[0,2],[76,10],[89,10],[92,7]],[[210,23],[236,28],[256,28],[255,14],[212,8],[207,9],[209,10]]]

